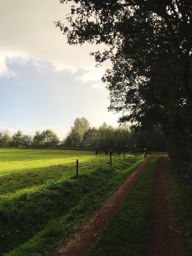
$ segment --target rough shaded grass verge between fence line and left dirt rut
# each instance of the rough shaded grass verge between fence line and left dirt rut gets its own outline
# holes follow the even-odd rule
[[[142,156],[116,157],[112,166],[91,164],[79,179],[52,179],[38,191],[23,193],[0,206],[0,255],[51,255],[90,212],[141,164]],[[49,253],[50,252],[50,253]]]

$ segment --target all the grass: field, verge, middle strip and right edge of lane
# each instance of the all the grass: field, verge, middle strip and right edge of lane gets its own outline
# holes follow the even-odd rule
[[[141,256],[146,252],[158,158],[134,184],[90,256]],[[125,154],[125,160],[123,154],[113,155],[110,166],[109,155],[92,151],[0,149],[0,255],[56,256],[56,248],[65,238],[99,209],[141,162],[143,155]],[[191,255],[191,187],[168,167],[167,177],[177,226]]]

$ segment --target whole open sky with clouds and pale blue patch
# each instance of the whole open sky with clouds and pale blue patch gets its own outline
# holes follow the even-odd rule
[[[67,44],[54,21],[67,25],[59,0],[0,0],[0,132],[35,135],[51,129],[62,140],[74,121],[117,127],[109,92],[89,52],[100,46]]]

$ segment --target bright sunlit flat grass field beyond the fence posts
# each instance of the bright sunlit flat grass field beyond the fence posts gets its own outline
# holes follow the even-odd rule
[[[26,190],[37,191],[48,183],[74,175],[78,158],[80,167],[98,159],[101,164],[107,161],[105,155],[96,158],[94,152],[89,151],[1,149],[0,200],[26,193]]]

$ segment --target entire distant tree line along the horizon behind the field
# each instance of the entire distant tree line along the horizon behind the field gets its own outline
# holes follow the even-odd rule
[[[12,137],[0,132],[0,148],[61,148],[81,150],[138,150],[165,151],[165,137],[159,126],[153,130],[138,130],[133,126],[114,128],[104,122],[99,128],[91,127],[85,117],[76,118],[67,136],[60,141],[50,129],[36,131],[34,136],[18,130]]]

